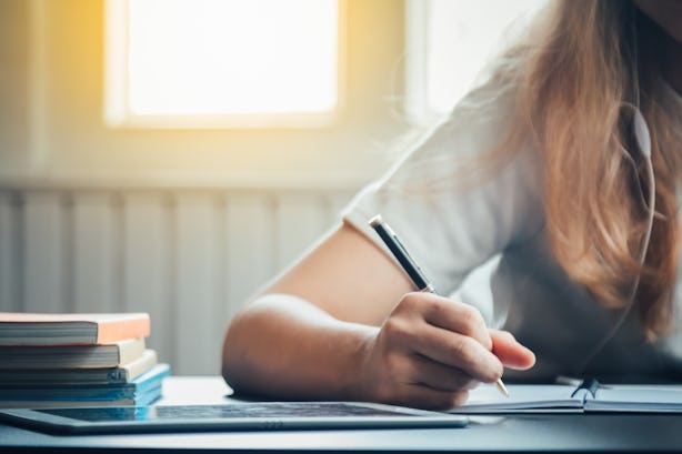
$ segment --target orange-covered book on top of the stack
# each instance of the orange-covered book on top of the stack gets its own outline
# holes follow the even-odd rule
[[[0,312],[2,345],[110,344],[147,337],[149,314]]]

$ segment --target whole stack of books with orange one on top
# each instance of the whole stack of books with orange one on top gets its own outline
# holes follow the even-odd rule
[[[0,407],[149,405],[170,375],[146,313],[0,312]]]

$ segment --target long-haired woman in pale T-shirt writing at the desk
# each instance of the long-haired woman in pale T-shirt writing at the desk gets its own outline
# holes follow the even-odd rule
[[[441,408],[504,367],[679,380],[681,62],[682,1],[553,3],[238,314],[228,383]],[[414,292],[375,214],[448,297]]]

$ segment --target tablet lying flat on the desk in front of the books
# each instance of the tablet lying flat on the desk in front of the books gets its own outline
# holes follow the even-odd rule
[[[462,427],[461,415],[360,402],[6,408],[0,421],[60,434]]]

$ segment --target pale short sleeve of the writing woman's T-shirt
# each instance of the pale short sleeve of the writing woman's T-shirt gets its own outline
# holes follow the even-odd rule
[[[442,294],[543,223],[534,150],[522,147],[499,167],[485,160],[504,140],[513,114],[512,92],[495,90],[488,84],[465,97],[342,212],[344,222],[390,255],[368,224],[381,214]]]

